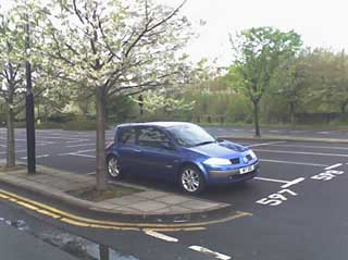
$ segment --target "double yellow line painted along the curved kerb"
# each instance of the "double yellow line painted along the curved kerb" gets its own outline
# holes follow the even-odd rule
[[[0,189],[0,199],[4,199],[14,202],[21,207],[33,210],[37,213],[50,216],[58,221],[66,224],[91,227],[91,228],[103,228],[103,230],[117,230],[117,231],[162,231],[162,232],[174,232],[174,231],[201,231],[206,230],[207,225],[216,224],[222,222],[232,221],[241,216],[252,215],[251,213],[236,211],[234,214],[223,219],[195,222],[195,223],[132,223],[132,222],[116,222],[116,221],[101,221],[96,219],[84,218],[80,215],[72,214],[66,211],[53,208],[51,206],[25,198],[23,196]]]

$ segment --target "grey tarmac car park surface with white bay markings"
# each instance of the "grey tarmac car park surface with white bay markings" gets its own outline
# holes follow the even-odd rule
[[[25,161],[26,153],[22,151],[26,145],[22,140],[25,131],[16,134],[17,158]],[[112,132],[107,136],[112,139]],[[4,159],[5,134],[1,132],[0,137],[0,156]],[[91,132],[38,131],[37,161],[79,174],[94,174],[94,140]],[[160,259],[346,259],[347,144],[236,141],[254,150],[261,160],[262,174],[246,184],[209,188],[200,196],[232,203],[252,215],[199,232],[163,232],[175,238],[172,243],[148,234],[73,230],[149,260],[154,255]],[[127,182],[181,193],[171,183],[156,179]]]

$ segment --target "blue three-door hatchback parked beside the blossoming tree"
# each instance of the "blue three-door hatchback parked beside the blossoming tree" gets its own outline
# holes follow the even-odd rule
[[[189,194],[207,185],[245,182],[260,171],[252,150],[183,122],[119,125],[105,152],[113,178],[125,173],[156,176],[177,182]]]

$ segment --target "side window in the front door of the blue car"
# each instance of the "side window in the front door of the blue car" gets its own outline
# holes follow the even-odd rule
[[[141,127],[138,136],[139,146],[162,148],[164,145],[170,146],[171,141],[166,135],[154,127]]]

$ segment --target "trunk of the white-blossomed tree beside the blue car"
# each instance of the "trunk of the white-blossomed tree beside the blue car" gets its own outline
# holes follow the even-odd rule
[[[96,181],[97,189],[107,189],[105,178],[105,88],[97,87],[96,89],[96,110],[97,110],[97,136],[96,136]]]

